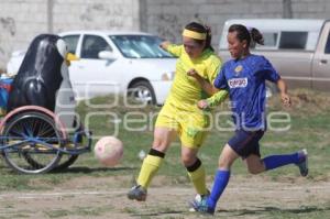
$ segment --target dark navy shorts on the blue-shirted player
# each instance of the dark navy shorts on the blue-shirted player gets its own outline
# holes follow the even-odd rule
[[[235,134],[228,141],[229,146],[234,150],[242,158],[251,154],[261,156],[258,141],[264,135],[263,130],[244,131],[237,130]]]

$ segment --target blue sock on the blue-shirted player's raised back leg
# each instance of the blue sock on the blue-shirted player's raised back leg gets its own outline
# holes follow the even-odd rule
[[[271,156],[263,158],[263,161],[264,161],[266,171],[270,171],[273,168],[277,168],[279,166],[299,163],[299,155],[298,155],[298,153],[271,155]]]

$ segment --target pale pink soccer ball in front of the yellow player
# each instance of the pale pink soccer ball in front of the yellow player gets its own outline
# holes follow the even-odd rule
[[[105,166],[116,166],[123,155],[123,144],[114,136],[101,138],[94,147],[95,156]]]

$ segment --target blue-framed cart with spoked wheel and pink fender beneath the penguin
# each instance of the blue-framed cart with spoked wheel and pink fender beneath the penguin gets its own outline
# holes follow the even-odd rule
[[[1,123],[0,151],[6,163],[19,173],[41,174],[70,166],[90,151],[88,131],[73,134],[50,110],[26,106],[7,114]]]

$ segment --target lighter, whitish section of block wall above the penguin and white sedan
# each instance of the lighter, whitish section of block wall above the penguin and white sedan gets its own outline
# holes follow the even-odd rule
[[[0,68],[40,33],[140,30],[138,0],[1,0]]]

